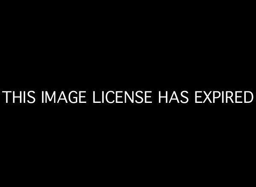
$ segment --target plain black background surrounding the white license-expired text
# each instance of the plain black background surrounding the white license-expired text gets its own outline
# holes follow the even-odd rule
[[[152,90],[154,104],[2,102],[5,176],[131,184],[250,178],[255,101],[196,105],[193,96],[255,94],[247,7],[42,7],[3,13],[1,91]],[[183,90],[187,105],[157,104],[157,91]]]

